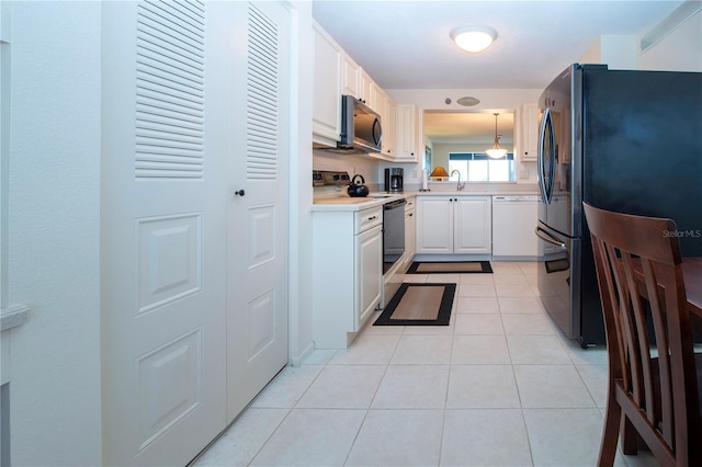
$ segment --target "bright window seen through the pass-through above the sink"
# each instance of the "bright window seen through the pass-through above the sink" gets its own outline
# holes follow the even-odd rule
[[[450,152],[449,173],[457,170],[468,182],[513,182],[517,180],[514,155],[491,159],[485,152]]]

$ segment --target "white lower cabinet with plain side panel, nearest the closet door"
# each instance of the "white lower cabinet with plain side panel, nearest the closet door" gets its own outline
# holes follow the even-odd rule
[[[381,301],[383,207],[313,214],[313,339],[347,349]]]

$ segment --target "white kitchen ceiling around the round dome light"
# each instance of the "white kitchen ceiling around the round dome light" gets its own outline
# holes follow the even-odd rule
[[[642,35],[682,0],[313,0],[315,20],[383,89],[544,89],[603,34]],[[497,30],[485,52],[449,34]]]

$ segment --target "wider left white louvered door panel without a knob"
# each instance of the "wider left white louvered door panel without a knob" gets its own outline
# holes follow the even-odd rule
[[[102,9],[104,464],[185,465],[226,426],[227,7]]]

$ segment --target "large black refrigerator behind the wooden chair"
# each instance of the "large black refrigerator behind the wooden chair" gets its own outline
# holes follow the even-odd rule
[[[582,202],[669,217],[682,254],[702,257],[702,73],[575,64],[539,107],[541,301],[582,348],[604,344]]]

